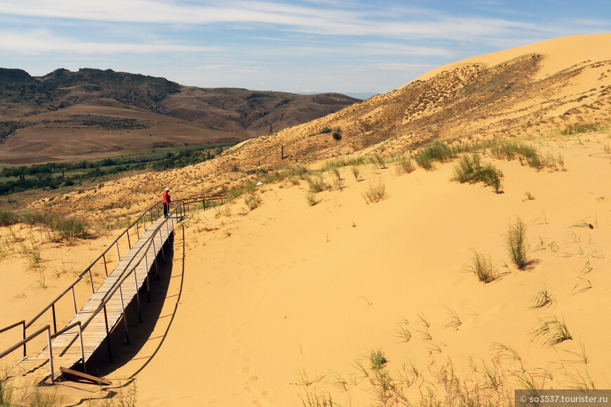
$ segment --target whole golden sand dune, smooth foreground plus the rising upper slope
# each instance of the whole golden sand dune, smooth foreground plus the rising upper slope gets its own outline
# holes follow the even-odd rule
[[[443,401],[448,363],[464,385],[450,387],[450,392],[478,394],[500,405],[513,405],[513,389],[525,387],[527,381],[545,388],[609,387],[610,331],[605,322],[611,314],[605,304],[611,288],[611,135],[608,130],[565,135],[543,131],[565,120],[605,123],[609,79],[598,70],[609,69],[610,55],[604,55],[608,50],[596,48],[591,61],[579,65],[585,54],[575,51],[571,56],[573,48],[565,45],[577,48],[607,38],[580,36],[485,55],[477,60],[481,66],[463,61],[450,67],[452,73],[426,79],[431,92],[443,95],[443,86],[451,88],[461,75],[471,75],[475,82],[515,78],[520,72],[534,78],[528,84],[515,82],[518,90],[511,95],[486,99],[481,106],[463,99],[460,107],[471,103],[474,109],[482,108],[480,114],[444,124],[470,129],[463,135],[472,135],[472,141],[515,136],[542,156],[562,158],[555,170],[537,171],[517,159],[482,156],[503,172],[502,194],[481,184],[452,181],[456,162],[405,175],[398,175],[397,164],[363,164],[359,182],[350,167],[339,169],[341,190],[334,187],[333,173],[325,172],[329,187],[315,195],[318,202],[313,206],[306,199],[306,180],[295,178],[293,185],[287,178],[259,187],[256,208],[248,208],[242,196],[226,206],[192,213],[184,234],[183,229],[176,231],[156,325],[141,347],[125,347],[115,364],[100,359],[98,374],[118,385],[60,385],[65,403],[77,405],[91,398],[94,405],[103,405],[109,395],[133,392],[136,387],[126,385],[126,378],[137,375],[138,405],[143,406],[301,406],[300,396],[307,394],[331,396],[341,406],[366,406],[379,403],[381,379],[369,360],[378,351],[386,359],[381,371],[398,389],[390,394],[395,405],[405,405],[399,392],[415,402],[428,389]],[[544,55],[545,50],[550,54],[508,64],[517,70],[498,67],[502,76],[495,76],[494,69],[486,71],[486,64],[524,53]],[[556,55],[561,51],[566,55]],[[569,72],[558,74],[558,69]],[[556,74],[558,80],[545,82],[546,92],[520,94],[520,89],[532,90]],[[602,88],[588,93],[592,81]],[[478,95],[483,95],[487,83],[480,85]],[[363,145],[357,142],[362,141],[357,129],[367,118],[371,123],[388,117],[404,121],[405,109],[414,106],[410,101],[416,97],[416,88],[409,86],[246,142],[214,162],[67,194],[66,207],[77,213],[105,207],[93,215],[110,218],[156,199],[167,180],[173,180],[180,197],[256,179],[231,171],[232,166],[273,169],[298,160],[314,169],[328,156],[355,149],[360,154],[381,152],[390,161],[391,153],[409,154],[412,143],[428,135],[396,134]],[[405,89],[413,94],[402,93]],[[548,116],[535,109],[546,94],[557,96],[556,104],[544,106]],[[585,101],[575,101],[575,95],[585,95]],[[410,111],[418,116],[410,117],[420,124],[428,123],[427,117],[440,120],[441,114],[455,112],[452,103]],[[492,114],[494,109],[498,115]],[[343,141],[328,147],[330,136],[310,137],[324,125],[340,126]],[[504,126],[513,127],[501,131]],[[447,139],[454,137],[459,135]],[[277,157],[281,145],[291,154],[286,161]],[[384,185],[386,195],[368,204],[363,195],[372,185]],[[109,196],[125,199],[129,206],[109,208]],[[45,204],[38,201],[33,207]],[[62,210],[60,205],[53,208]],[[531,261],[523,270],[513,264],[505,243],[509,225],[518,218],[527,228]],[[475,252],[490,256],[500,274],[497,280],[486,284],[473,275]],[[546,291],[551,302],[532,308],[540,291]],[[570,339],[552,345],[558,326],[554,321],[565,324]],[[551,333],[539,329],[542,322]]]

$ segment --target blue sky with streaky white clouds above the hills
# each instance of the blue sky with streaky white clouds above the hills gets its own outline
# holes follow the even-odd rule
[[[0,67],[374,94],[474,55],[600,32],[609,0],[0,0]]]

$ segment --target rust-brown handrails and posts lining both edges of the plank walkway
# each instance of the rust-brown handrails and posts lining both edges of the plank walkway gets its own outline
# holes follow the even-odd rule
[[[41,312],[39,312],[39,314],[37,314],[37,316],[34,316],[34,318],[32,320],[30,320],[29,322],[25,322],[25,320],[23,321],[19,321],[17,323],[13,323],[13,325],[11,326],[7,326],[6,328],[2,328],[0,329],[0,333],[4,333],[6,331],[11,330],[12,328],[15,328],[17,326],[22,326],[22,333],[23,333],[23,339],[20,340],[20,342],[18,342],[17,344],[13,345],[12,347],[10,347],[9,349],[6,349],[4,352],[2,352],[0,354],[0,359],[4,358],[4,356],[11,354],[11,352],[13,352],[15,349],[18,349],[18,347],[23,346],[23,357],[25,358],[27,356],[27,352],[26,352],[26,344],[27,342],[29,342],[30,340],[36,338],[38,335],[40,335],[42,332],[44,331],[48,331],[48,352],[49,352],[49,360],[50,360],[50,368],[51,368],[51,381],[53,382],[54,378],[53,378],[53,354],[52,354],[52,348],[51,348],[51,340],[54,338],[57,338],[58,336],[66,333],[67,331],[70,331],[71,329],[73,329],[74,327],[78,327],[79,328],[79,340],[80,340],[80,345],[81,345],[81,360],[83,362],[83,367],[85,368],[85,359],[84,359],[84,347],[83,347],[83,338],[82,338],[82,333],[85,330],[85,328],[88,326],[88,324],[93,320],[93,318],[95,316],[97,316],[103,309],[105,310],[105,307],[107,305],[107,303],[110,301],[110,299],[112,298],[112,296],[117,293],[117,290],[121,289],[121,285],[124,283],[124,281],[131,276],[131,274],[133,272],[135,272],[136,268],[138,267],[138,265],[140,265],[140,263],[147,259],[147,255],[143,255],[140,257],[140,259],[132,264],[134,262],[134,260],[136,260],[136,258],[138,258],[138,255],[140,255],[140,253],[142,253],[142,250],[145,249],[144,253],[147,253],[150,246],[155,244],[155,237],[157,236],[157,234],[159,233],[159,231],[162,229],[162,227],[164,227],[164,225],[168,225],[168,222],[171,221],[173,223],[173,219],[175,215],[180,218],[184,218],[185,216],[185,211],[187,211],[188,208],[188,204],[192,201],[199,201],[202,200],[205,202],[206,199],[209,200],[216,200],[216,199],[221,199],[221,204],[223,204],[223,199],[225,198],[225,196],[223,195],[216,195],[216,196],[195,196],[195,197],[190,197],[187,199],[183,199],[181,201],[178,201],[178,205],[176,205],[173,210],[169,213],[169,218],[165,219],[163,222],[161,222],[154,231],[152,231],[152,236],[150,239],[148,239],[147,243],[143,244],[143,246],[140,246],[140,248],[138,248],[138,251],[136,251],[136,254],[131,258],[131,260],[129,260],[128,264],[124,267],[123,271],[121,271],[121,274],[119,276],[119,279],[117,279],[117,281],[115,281],[112,284],[112,287],[107,291],[107,293],[105,293],[105,295],[103,296],[102,300],[100,301],[100,305],[98,306],[98,308],[96,309],[95,312],[93,312],[86,321],[75,321],[74,323],[71,323],[69,326],[66,326],[65,328],[61,329],[60,331],[57,331],[57,326],[56,326],[56,322],[55,322],[55,303],[58,302],[61,298],[63,298],[64,295],[66,295],[66,293],[68,291],[72,290],[72,298],[74,301],[74,316],[77,316],[78,312],[77,312],[77,305],[76,305],[76,299],[74,296],[74,287],[77,285],[77,283],[79,283],[79,281],[81,281],[83,279],[83,277],[85,276],[86,273],[89,273],[90,279],[91,279],[91,269],[94,265],[96,265],[96,263],[102,259],[105,258],[106,253],[108,253],[108,251],[110,251],[110,249],[112,248],[112,246],[117,246],[117,255],[119,255],[119,239],[121,239],[122,236],[124,236],[125,234],[127,234],[128,237],[128,245],[131,248],[131,242],[129,240],[129,229],[131,229],[134,225],[136,225],[136,227],[138,227],[138,224],[140,221],[143,222],[143,225],[145,227],[146,225],[146,216],[149,215],[150,216],[150,220],[151,222],[153,222],[152,218],[153,218],[153,209],[157,210],[157,215],[159,215],[159,204],[161,204],[161,202],[157,202],[155,205],[150,206],[150,208],[147,208],[142,215],[140,215],[140,217],[138,217],[138,219],[136,219],[134,222],[131,223],[131,225],[129,225],[129,227],[127,227],[124,232],[122,232],[119,236],[117,236],[117,239],[114,239],[114,241],[112,241],[112,243],[110,243],[110,245],[108,246],[108,248],[106,248],[105,251],[103,251],[103,253],[98,256],[98,258],[96,258],[96,260],[94,260],[93,262],[91,262],[91,265],[89,265],[88,267],[86,267],[86,269],[84,269],[83,272],[81,272],[81,274],[79,274],[79,276],[77,277],[77,279],[72,282],[70,284],[70,286],[68,286],[63,293],[61,293],[60,295],[58,295],[57,298],[55,298],[55,300],[53,300],[51,303],[49,303]],[[205,206],[205,204],[204,204]],[[173,229],[173,227],[172,227]],[[145,229],[146,230],[146,229]],[[144,232],[143,232],[144,233]],[[138,232],[138,237],[140,237],[140,232]],[[155,246],[153,246],[155,247]],[[105,261],[105,260],[104,260]],[[118,262],[121,262],[121,257],[119,255],[118,258]],[[105,262],[106,265],[106,262]],[[149,270],[147,270],[147,274],[148,274]],[[145,277],[146,279],[148,278],[148,276]],[[91,280],[91,288],[93,290],[93,280]],[[93,291],[95,293],[95,291]],[[138,295],[138,286],[136,286],[136,295]],[[139,301],[139,300],[138,300]],[[123,306],[123,300],[122,300],[122,294],[121,294],[121,307]],[[138,305],[138,308],[140,306]],[[51,334],[51,325],[47,324],[46,326],[39,328],[38,331],[36,331],[35,333],[33,333],[32,335],[29,335],[27,338],[25,337],[26,335],[26,329],[29,328],[30,326],[32,326],[32,324],[37,321],[45,312],[48,311],[48,309],[53,309],[53,328],[55,333]],[[124,310],[123,310],[124,312]],[[108,333],[108,327],[107,327],[107,333]],[[110,350],[110,347],[109,347]]]

